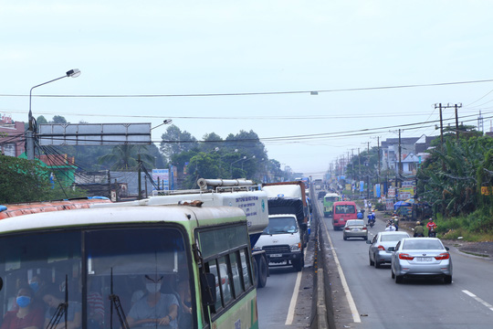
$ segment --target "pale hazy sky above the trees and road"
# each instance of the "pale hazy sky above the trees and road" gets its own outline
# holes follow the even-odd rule
[[[482,111],[489,131],[492,13],[466,0],[0,0],[0,113],[26,121],[31,87],[77,68],[33,91],[76,96],[33,97],[35,117],[171,118],[199,140],[253,130],[270,158],[321,175],[398,128],[437,134],[438,102],[462,103],[467,124]],[[478,80],[492,81],[435,85]],[[379,89],[398,86],[414,87]]]

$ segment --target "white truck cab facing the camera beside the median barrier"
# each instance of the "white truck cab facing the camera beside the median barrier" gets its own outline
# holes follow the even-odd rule
[[[266,251],[269,266],[290,264],[296,271],[301,271],[305,266],[301,238],[296,215],[269,215],[268,226],[258,239],[255,249]]]

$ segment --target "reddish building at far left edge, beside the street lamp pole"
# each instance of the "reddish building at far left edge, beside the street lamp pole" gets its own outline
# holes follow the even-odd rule
[[[0,153],[19,156],[25,152],[24,122],[14,122],[10,116],[0,115]]]

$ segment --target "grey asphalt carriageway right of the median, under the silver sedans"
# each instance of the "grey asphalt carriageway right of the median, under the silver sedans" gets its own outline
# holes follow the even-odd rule
[[[332,252],[336,253],[351,292],[351,297],[342,298],[341,277],[339,272],[332,272],[338,328],[493,328],[492,262],[452,249],[452,284],[421,280],[396,284],[391,279],[390,266],[370,266],[366,241],[344,241],[342,232],[331,228],[330,218],[325,218],[324,223],[327,229],[323,228],[323,233],[330,235]],[[383,221],[377,215],[377,225],[370,228],[369,239],[383,229]],[[351,298],[352,309],[347,304]]]

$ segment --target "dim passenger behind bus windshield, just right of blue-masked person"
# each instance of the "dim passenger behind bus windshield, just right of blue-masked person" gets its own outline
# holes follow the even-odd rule
[[[57,319],[58,316],[61,315],[60,322],[57,326],[54,326],[55,329],[65,327],[63,309],[60,304],[65,302],[64,293],[60,292],[59,287],[57,285],[51,285],[47,287],[47,291],[44,292],[43,301],[47,303],[47,313],[45,313],[45,328],[50,327],[50,324]],[[66,329],[77,329],[80,327],[82,322],[82,307],[79,302],[70,302],[68,301],[67,308],[67,328]]]

